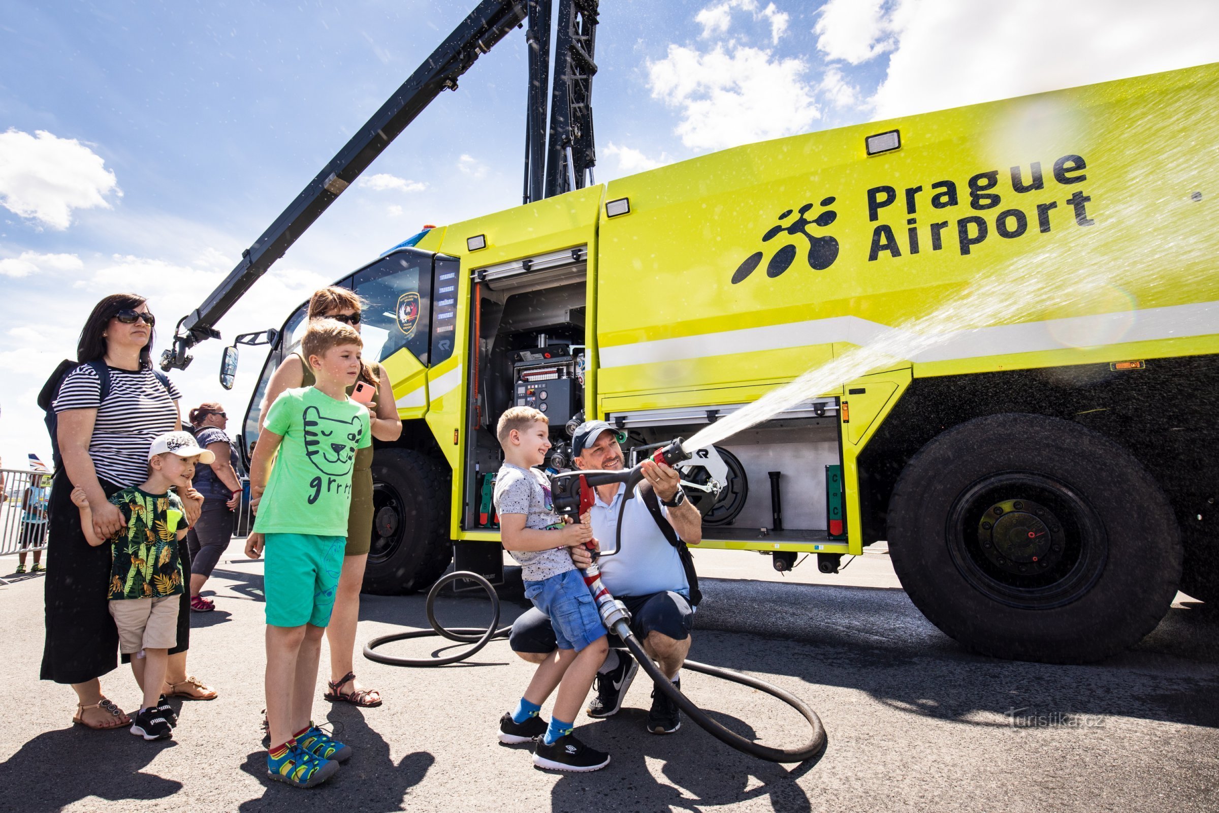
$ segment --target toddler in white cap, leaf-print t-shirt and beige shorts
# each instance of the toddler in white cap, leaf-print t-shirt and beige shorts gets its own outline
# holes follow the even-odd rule
[[[72,489],[80,508],[80,529],[90,545],[111,545],[110,614],[118,628],[118,645],[132,656],[132,672],[144,687],[144,701],[132,722],[132,734],[145,740],[167,740],[178,718],[161,687],[169,666],[169,650],[178,645],[178,605],[182,561],[178,541],[187,535],[184,512],[172,488],[189,489],[195,463],[216,456],[195,444],[187,431],[167,431],[149,447],[149,477],[118,491],[124,527],[110,539],[93,531],[93,511],[84,489]]]

